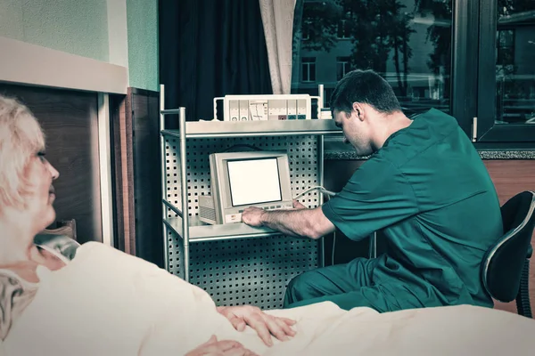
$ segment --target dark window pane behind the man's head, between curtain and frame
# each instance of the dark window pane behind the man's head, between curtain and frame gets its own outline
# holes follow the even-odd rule
[[[374,69],[394,88],[407,114],[430,108],[449,113],[453,0],[366,4],[364,0],[298,1],[296,6],[304,6],[307,19],[321,24],[321,31],[307,41],[295,39],[300,41],[294,47],[300,49],[302,75],[292,78],[294,93],[306,93],[310,86],[302,83],[316,78],[325,92],[331,91],[350,68]],[[303,23],[300,28],[306,26]],[[307,73],[311,65],[305,59],[310,57],[317,58],[314,79]]]

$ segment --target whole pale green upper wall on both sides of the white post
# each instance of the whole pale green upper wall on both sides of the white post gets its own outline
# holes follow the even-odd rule
[[[110,44],[124,40],[108,33],[109,1],[127,6],[126,23],[113,24],[128,33],[129,85],[158,91],[158,0],[0,0],[0,36],[110,62]]]

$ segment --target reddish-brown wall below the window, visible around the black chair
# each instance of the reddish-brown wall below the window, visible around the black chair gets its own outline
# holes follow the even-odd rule
[[[523,190],[535,191],[535,159],[485,160],[484,163],[498,192],[500,205]],[[535,247],[535,233],[531,238],[531,246]],[[531,309],[535,310],[535,256],[531,257],[530,262],[530,299]],[[496,302],[495,308],[516,312],[514,302]]]

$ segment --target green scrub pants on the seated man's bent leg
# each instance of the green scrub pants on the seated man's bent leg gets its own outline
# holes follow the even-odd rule
[[[326,301],[344,310],[364,306],[377,312],[432,306],[424,305],[416,291],[411,291],[402,281],[374,283],[377,263],[376,259],[357,258],[350,263],[306,271],[290,281],[284,295],[284,308]],[[436,298],[431,300],[434,300],[431,304],[440,305]]]

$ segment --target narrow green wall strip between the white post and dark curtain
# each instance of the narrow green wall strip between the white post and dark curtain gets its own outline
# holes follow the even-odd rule
[[[158,0],[127,0],[130,86],[159,90]]]

